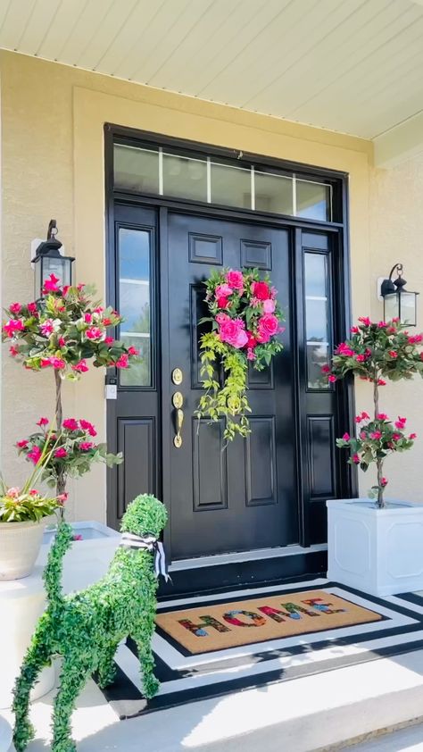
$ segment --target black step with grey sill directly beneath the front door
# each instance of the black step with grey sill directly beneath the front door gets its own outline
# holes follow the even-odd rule
[[[161,581],[159,599],[225,591],[236,587],[298,581],[307,576],[326,576],[328,550],[324,544],[303,548],[263,549],[225,556],[204,556],[175,562],[171,582]]]

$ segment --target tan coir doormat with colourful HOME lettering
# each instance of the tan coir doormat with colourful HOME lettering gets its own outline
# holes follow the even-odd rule
[[[251,598],[158,614],[160,631],[187,655],[377,622],[382,614],[323,590]]]

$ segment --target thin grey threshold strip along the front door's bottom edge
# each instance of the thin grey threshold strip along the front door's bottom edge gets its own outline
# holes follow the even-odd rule
[[[293,546],[278,546],[275,548],[256,548],[253,551],[237,551],[233,554],[215,554],[213,556],[195,556],[192,559],[180,559],[172,562],[170,572],[182,572],[186,569],[198,569],[203,566],[218,566],[222,564],[236,564],[237,562],[262,561],[274,559],[280,556],[299,556],[311,554],[315,551],[327,551],[327,543],[315,543],[313,546],[304,548],[298,544]]]

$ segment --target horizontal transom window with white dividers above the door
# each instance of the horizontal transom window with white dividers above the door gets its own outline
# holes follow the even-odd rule
[[[235,160],[234,160],[235,162]],[[115,144],[114,188],[204,204],[332,221],[332,186],[255,164],[170,153],[161,146]]]

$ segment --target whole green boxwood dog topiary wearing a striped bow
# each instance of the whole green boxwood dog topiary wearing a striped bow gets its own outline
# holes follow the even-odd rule
[[[76,749],[71,739],[71,714],[79,692],[95,671],[101,687],[112,683],[113,657],[122,639],[130,636],[137,643],[145,697],[152,698],[157,692],[151,650],[157,590],[152,552],[158,550],[157,540],[166,520],[166,509],[155,497],[144,494],[134,499],[123,515],[124,535],[104,578],[68,596],[62,594],[62,559],[71,547],[73,533],[67,522],[59,525],[44,573],[46,612],[37,623],[14,688],[17,752],[34,736],[29,723],[29,692],[37,674],[54,656],[62,656],[62,673],[54,700],[53,752]]]

